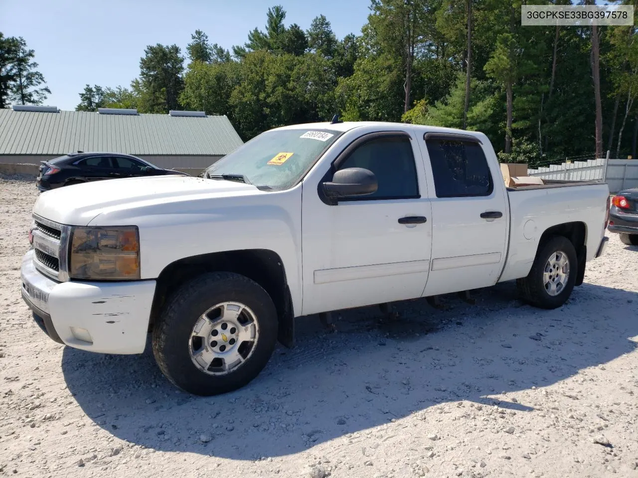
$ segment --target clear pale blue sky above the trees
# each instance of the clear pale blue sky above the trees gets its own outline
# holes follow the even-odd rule
[[[73,110],[84,85],[127,86],[139,74],[147,45],[176,43],[185,53],[200,29],[230,50],[248,31],[264,28],[270,6],[281,4],[286,25],[304,30],[323,13],[343,38],[359,33],[369,0],[0,0],[0,31],[22,36],[52,94],[46,105]]]

